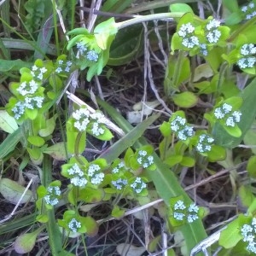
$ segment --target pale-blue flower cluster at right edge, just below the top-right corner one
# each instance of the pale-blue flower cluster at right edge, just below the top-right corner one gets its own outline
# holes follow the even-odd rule
[[[242,68],[253,67],[256,62],[256,47],[254,44],[243,44],[240,49],[241,59],[237,61],[237,65]]]

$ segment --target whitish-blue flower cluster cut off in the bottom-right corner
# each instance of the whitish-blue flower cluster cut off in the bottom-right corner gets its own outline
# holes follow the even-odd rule
[[[244,224],[241,227],[241,236],[243,237],[243,241],[246,241],[247,250],[252,253],[256,253],[256,218],[253,218],[252,224]]]

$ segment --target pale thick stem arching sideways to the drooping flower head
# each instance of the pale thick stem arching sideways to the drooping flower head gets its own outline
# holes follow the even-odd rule
[[[177,12],[177,13],[163,13],[163,14],[154,14],[154,15],[145,15],[145,16],[138,16],[131,20],[125,20],[123,22],[119,22],[116,24],[117,29],[123,29],[127,26],[132,26],[138,23],[143,23],[146,21],[151,20],[165,20],[165,19],[173,19],[173,18],[180,18],[184,15],[184,13]]]

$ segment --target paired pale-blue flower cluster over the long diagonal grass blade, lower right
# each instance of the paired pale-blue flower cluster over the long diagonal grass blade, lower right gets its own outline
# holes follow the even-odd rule
[[[189,223],[194,222],[198,217],[199,207],[195,205],[195,203],[191,203],[189,205],[189,209],[185,206],[184,202],[179,200],[174,204],[173,207],[173,218],[183,221],[185,217],[187,217],[187,221]]]

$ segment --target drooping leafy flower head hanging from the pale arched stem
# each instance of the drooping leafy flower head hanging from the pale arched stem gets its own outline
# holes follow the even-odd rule
[[[80,69],[88,67],[86,79],[102,73],[109,59],[109,49],[118,32],[113,18],[96,26],[94,32],[85,28],[75,28],[68,35],[74,36],[67,44],[67,50],[74,50],[73,57]]]

